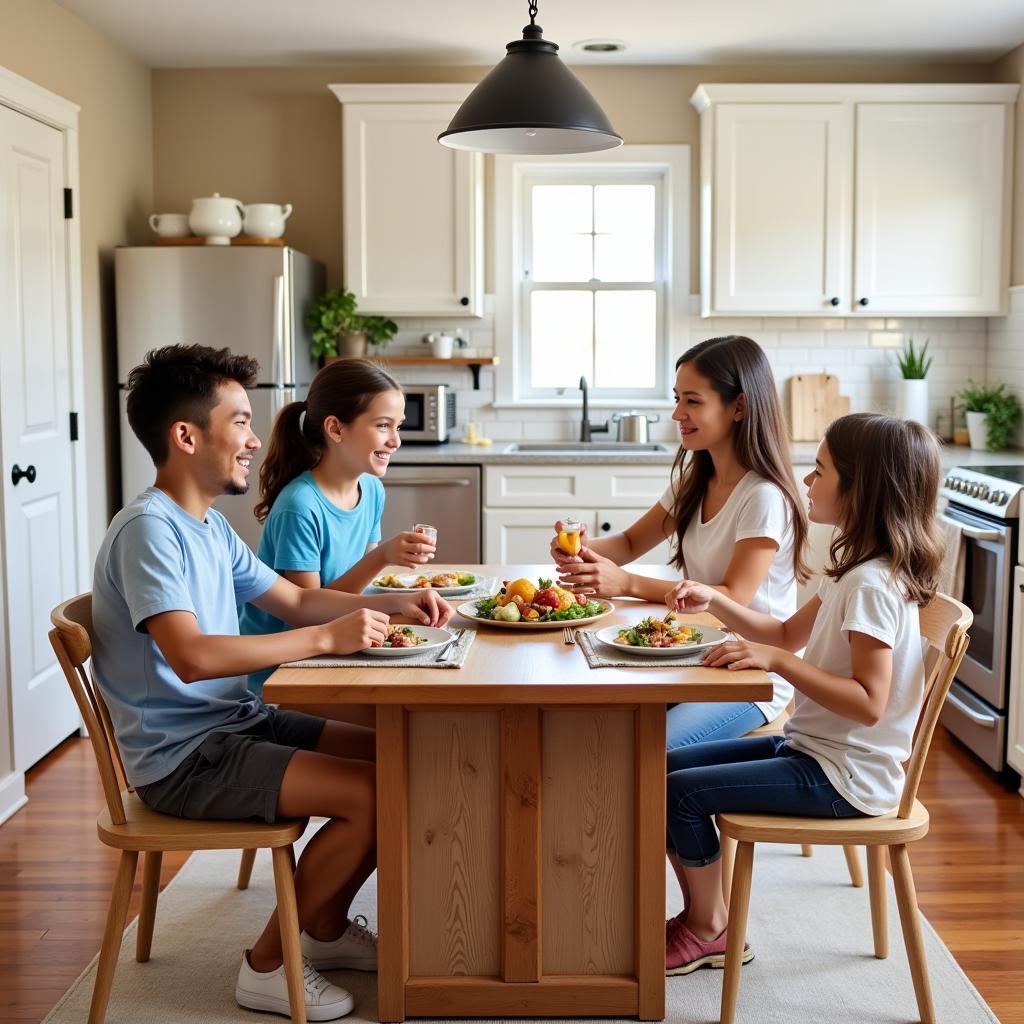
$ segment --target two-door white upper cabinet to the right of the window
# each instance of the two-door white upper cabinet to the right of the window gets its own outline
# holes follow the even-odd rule
[[[701,312],[1005,312],[1017,91],[699,86]]]

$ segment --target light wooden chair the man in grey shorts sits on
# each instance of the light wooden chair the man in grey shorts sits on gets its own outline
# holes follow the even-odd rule
[[[243,850],[252,851],[255,855],[257,849],[264,848],[269,848],[273,856],[278,916],[292,1021],[295,1024],[305,1024],[292,844],[302,836],[306,822],[285,820],[268,825],[254,821],[190,821],[159,814],[146,807],[126,782],[124,765],[114,740],[110,713],[95,681],[85,668],[85,663],[92,653],[92,595],[82,594],[57,605],[50,613],[50,621],[54,626],[49,633],[50,643],[88,729],[103,784],[106,807],[96,818],[96,831],[101,843],[121,851],[106,913],[103,942],[99,950],[89,1024],[101,1024],[106,1016],[138,855],[145,855],[142,904],[135,942],[135,959],[142,964],[148,961],[153,945],[153,926],[157,914],[157,897],[160,894],[160,865],[165,850]],[[252,860],[248,852],[243,855],[244,871],[240,872],[240,889],[246,888],[249,883],[248,870],[245,869],[247,859],[248,870],[251,870]]]

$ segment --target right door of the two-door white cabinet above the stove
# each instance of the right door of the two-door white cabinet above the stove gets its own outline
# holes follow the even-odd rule
[[[1006,108],[859,103],[856,120],[854,309],[999,312]]]

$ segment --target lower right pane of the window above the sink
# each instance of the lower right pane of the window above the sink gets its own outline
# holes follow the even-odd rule
[[[654,387],[656,293],[597,292],[594,318],[594,386]]]

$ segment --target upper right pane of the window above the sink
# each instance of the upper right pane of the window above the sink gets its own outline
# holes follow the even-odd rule
[[[597,185],[594,189],[594,276],[654,280],[654,186]]]

